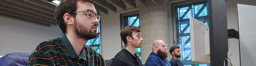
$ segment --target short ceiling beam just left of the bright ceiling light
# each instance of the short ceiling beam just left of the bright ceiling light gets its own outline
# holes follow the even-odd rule
[[[50,3],[47,3],[47,2],[41,1],[41,0],[25,0],[25,1],[48,8],[48,9],[51,9],[51,10],[55,10],[55,8],[56,8],[56,5],[53,5],[53,4],[50,4]]]

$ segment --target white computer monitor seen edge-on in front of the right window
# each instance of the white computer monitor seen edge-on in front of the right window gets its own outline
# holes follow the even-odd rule
[[[191,60],[210,62],[209,26],[195,18],[189,18]]]

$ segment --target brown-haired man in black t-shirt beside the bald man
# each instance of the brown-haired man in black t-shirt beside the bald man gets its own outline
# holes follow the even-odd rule
[[[140,58],[135,54],[135,49],[141,47],[142,37],[140,29],[127,26],[120,32],[125,43],[125,48],[119,51],[112,61],[112,66],[142,66]]]

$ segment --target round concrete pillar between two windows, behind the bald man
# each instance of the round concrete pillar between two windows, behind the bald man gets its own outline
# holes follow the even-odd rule
[[[152,45],[155,40],[163,40],[169,45],[167,2],[157,0],[155,5],[151,0],[146,0],[147,6],[140,4],[140,29],[143,38],[141,45],[141,61],[145,64],[149,54],[152,52]],[[169,47],[167,47],[168,49]],[[168,57],[170,57],[169,50]]]

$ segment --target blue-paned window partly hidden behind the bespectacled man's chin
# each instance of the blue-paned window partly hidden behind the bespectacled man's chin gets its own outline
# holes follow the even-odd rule
[[[101,47],[100,47],[100,23],[97,24],[98,28],[97,28],[97,37],[93,38],[93,39],[89,39],[87,40],[87,42],[85,43],[88,46],[91,46],[95,51],[97,51],[99,54],[101,54]]]

